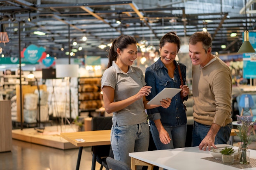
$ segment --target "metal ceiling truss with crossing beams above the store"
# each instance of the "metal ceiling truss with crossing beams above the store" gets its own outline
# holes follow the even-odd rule
[[[254,5],[254,2],[249,0],[248,6]],[[68,57],[64,52],[79,46],[83,50],[77,52],[76,57],[106,57],[106,49],[101,50],[98,45],[110,43],[121,34],[133,35],[137,41],[146,39],[150,45],[158,46],[167,32],[190,36],[204,26],[212,34],[213,51],[230,53],[236,52],[242,44],[245,25],[242,15],[228,18],[228,13],[186,14],[185,7],[168,5],[139,9],[133,1],[35,5],[25,0],[2,0],[2,3],[1,22],[5,24],[10,42],[0,46],[9,57],[18,56],[18,23],[21,23],[21,48],[30,44],[44,46],[52,57]],[[244,9],[241,9],[240,13],[243,12]],[[30,22],[27,20],[29,16],[32,19]],[[204,23],[205,19],[213,22]],[[251,21],[249,30],[254,30],[255,16],[247,19]],[[117,24],[116,20],[121,20],[121,24]],[[46,35],[35,35],[34,31],[42,31]],[[237,37],[230,38],[232,32],[237,32]],[[87,36],[85,42],[81,41],[82,36]],[[78,43],[76,46],[70,45],[74,39]],[[225,49],[220,48],[222,44],[226,44]],[[64,51],[60,50],[62,47]]]

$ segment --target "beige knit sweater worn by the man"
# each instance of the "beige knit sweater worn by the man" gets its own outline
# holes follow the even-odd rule
[[[209,65],[192,66],[193,116],[204,125],[225,126],[231,118],[231,71],[218,57]]]

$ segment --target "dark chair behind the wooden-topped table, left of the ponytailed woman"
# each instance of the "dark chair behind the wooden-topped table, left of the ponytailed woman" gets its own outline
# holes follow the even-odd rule
[[[112,116],[93,117],[91,120],[91,129],[93,130],[110,130],[112,127]],[[108,170],[107,163],[105,163],[107,156],[113,156],[111,145],[92,146],[93,160],[92,170],[95,170],[96,161],[101,164],[100,170],[103,166]]]

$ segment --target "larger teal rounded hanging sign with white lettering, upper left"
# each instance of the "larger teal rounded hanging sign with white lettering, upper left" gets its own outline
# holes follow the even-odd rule
[[[45,48],[31,44],[24,51],[24,58],[30,63],[37,63],[37,61],[42,57],[42,53],[44,51]]]

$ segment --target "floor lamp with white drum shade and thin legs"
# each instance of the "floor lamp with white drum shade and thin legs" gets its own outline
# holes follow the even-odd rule
[[[69,88],[69,105],[70,105],[70,119],[71,119],[71,89],[70,89],[70,77],[78,77],[78,64],[56,64],[56,78],[65,78],[67,77],[67,86]],[[66,101],[64,107],[65,120],[66,116]],[[69,121],[68,121],[69,122]],[[70,122],[69,122],[70,123]]]

